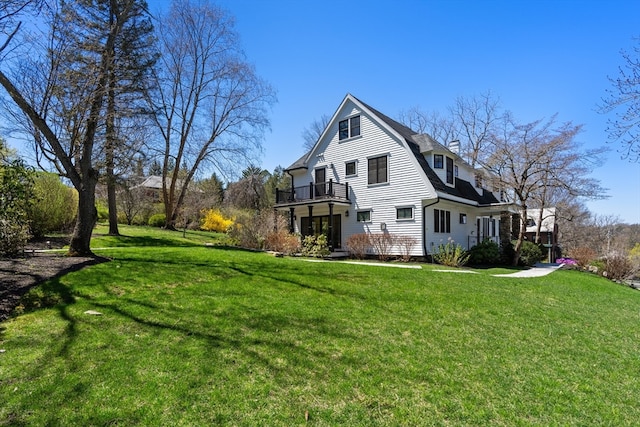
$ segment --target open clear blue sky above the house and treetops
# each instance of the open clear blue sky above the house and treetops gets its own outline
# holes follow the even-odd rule
[[[162,0],[150,1],[153,9]],[[597,105],[621,50],[640,37],[640,1],[218,2],[236,17],[249,60],[278,93],[262,167],[304,154],[301,133],[352,93],[390,117],[419,106],[445,111],[458,96],[491,91],[521,122],[583,124],[585,148],[605,144]],[[609,199],[601,215],[640,223],[640,164],[617,146],[593,177]]]

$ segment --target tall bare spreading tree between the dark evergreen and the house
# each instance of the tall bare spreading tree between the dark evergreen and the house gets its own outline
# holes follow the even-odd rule
[[[150,104],[161,135],[167,228],[175,228],[198,170],[237,170],[260,151],[269,126],[274,91],[246,61],[233,24],[207,2],[176,0],[156,27],[163,54]]]

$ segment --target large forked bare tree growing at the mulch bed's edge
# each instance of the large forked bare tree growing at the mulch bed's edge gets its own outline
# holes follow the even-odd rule
[[[102,123],[114,45],[131,17],[135,0],[99,3],[62,3],[50,20],[51,44],[36,70],[42,74],[28,76],[34,80],[27,76],[20,80],[15,73],[12,80],[0,70],[0,85],[26,116],[37,146],[50,156],[78,191],[78,216],[69,246],[71,255],[91,254],[91,233],[97,219],[96,135]],[[95,12],[92,8],[103,6],[115,11],[112,25],[92,25]]]

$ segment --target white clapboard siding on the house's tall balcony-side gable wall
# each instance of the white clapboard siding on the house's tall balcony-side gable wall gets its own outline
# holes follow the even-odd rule
[[[360,114],[360,136],[340,141],[338,122],[344,118]],[[368,159],[387,156],[388,182],[368,184]],[[346,177],[345,163],[356,161],[356,175]],[[320,141],[308,163],[308,170],[296,174],[295,185],[306,185],[314,180],[316,168],[326,167],[327,180],[346,183],[350,187],[352,205],[349,216],[345,208],[336,206],[334,213],[342,214],[342,243],[357,233],[380,233],[382,224],[391,234],[411,235],[417,239],[413,255],[420,256],[422,250],[422,200],[435,197],[433,187],[421,172],[406,142],[388,131],[377,118],[368,115],[348,101],[330,124],[324,140]],[[397,220],[397,207],[412,207],[413,219]],[[307,208],[297,208],[298,218],[307,216]],[[371,222],[357,222],[357,211],[371,210]],[[326,206],[314,207],[314,216],[326,214]],[[299,220],[298,226],[299,226]],[[397,252],[397,251],[394,251]]]

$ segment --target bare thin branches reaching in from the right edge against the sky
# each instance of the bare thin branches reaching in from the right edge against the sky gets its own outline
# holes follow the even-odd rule
[[[624,65],[618,68],[619,75],[609,78],[613,88],[603,100],[603,113],[615,112],[609,120],[607,131],[611,142],[622,145],[623,158],[640,161],[640,37],[631,52],[622,52]]]

